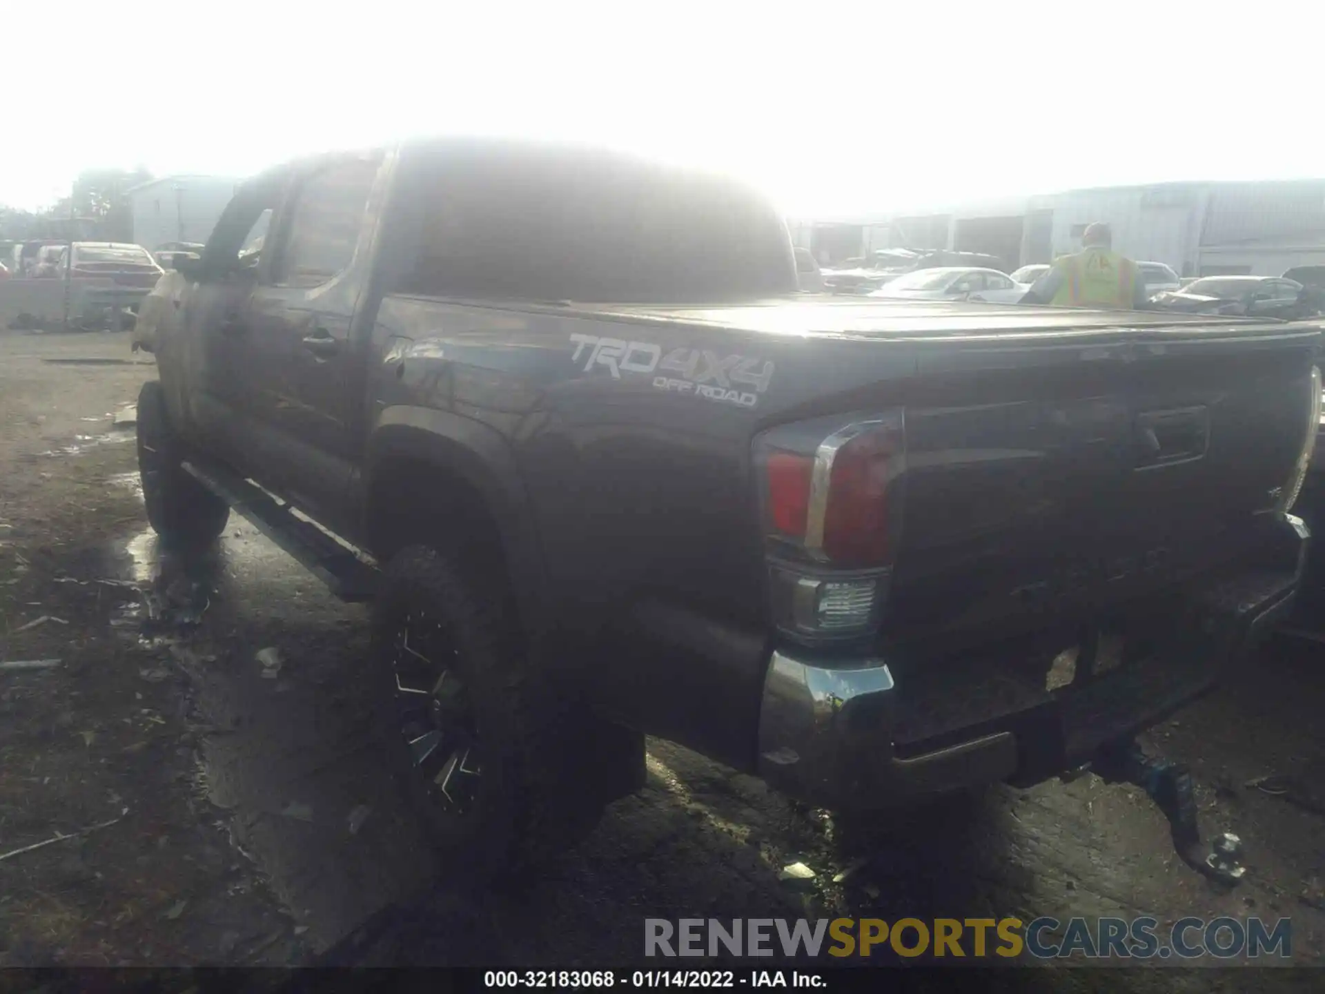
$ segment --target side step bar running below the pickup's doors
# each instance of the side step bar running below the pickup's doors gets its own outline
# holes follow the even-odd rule
[[[246,518],[258,531],[294,557],[342,600],[371,600],[379,573],[290,508],[228,469],[182,463],[186,473]]]

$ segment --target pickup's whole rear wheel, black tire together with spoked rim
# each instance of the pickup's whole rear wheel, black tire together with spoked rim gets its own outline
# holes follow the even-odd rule
[[[374,603],[376,725],[448,880],[519,871],[580,840],[606,798],[558,689],[531,672],[500,578],[409,546]],[[640,742],[643,749],[643,741]]]

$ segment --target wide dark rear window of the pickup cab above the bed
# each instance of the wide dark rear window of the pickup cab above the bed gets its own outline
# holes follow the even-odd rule
[[[403,293],[664,304],[798,288],[782,216],[727,180],[564,148],[425,147],[407,163]]]

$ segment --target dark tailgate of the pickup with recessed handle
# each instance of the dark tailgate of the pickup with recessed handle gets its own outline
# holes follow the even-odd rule
[[[885,634],[1043,626],[1236,558],[1306,432],[1316,329],[921,347]]]

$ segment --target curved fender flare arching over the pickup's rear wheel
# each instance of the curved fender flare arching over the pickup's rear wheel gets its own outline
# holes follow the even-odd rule
[[[386,408],[368,435],[364,460],[364,533],[378,468],[392,457],[429,463],[464,478],[484,500],[501,535],[525,631],[545,631],[546,569],[533,506],[515,456],[496,429],[470,417],[411,404]]]

